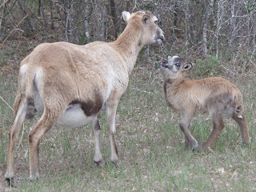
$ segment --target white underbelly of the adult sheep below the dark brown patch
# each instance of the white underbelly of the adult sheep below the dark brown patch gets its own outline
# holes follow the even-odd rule
[[[80,105],[73,105],[66,109],[64,114],[58,118],[56,124],[58,126],[76,128],[88,125],[95,118],[97,118],[96,115],[87,117]]]

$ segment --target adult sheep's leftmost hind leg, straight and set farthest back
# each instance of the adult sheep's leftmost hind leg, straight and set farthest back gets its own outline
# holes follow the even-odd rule
[[[9,134],[7,170],[5,174],[6,180],[9,180],[9,181],[11,181],[11,179],[14,178],[14,148],[18,140],[18,134],[26,118],[26,109],[27,109],[27,102],[25,101],[25,98],[22,98],[18,106],[18,112],[15,117],[14,124],[10,129],[10,134]]]

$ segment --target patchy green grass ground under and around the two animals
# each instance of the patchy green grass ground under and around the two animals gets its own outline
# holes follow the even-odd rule
[[[2,73],[2,72],[1,72]],[[239,76],[240,75],[240,76]],[[117,142],[120,162],[110,162],[105,113],[100,114],[104,162],[93,162],[94,138],[90,126],[64,129],[54,126],[40,144],[40,180],[29,182],[26,122],[21,144],[15,152],[14,191],[254,191],[256,190],[255,74],[233,76],[244,94],[246,118],[252,143],[242,146],[238,126],[226,118],[212,151],[193,153],[184,147],[178,114],[162,94],[160,70],[136,67],[130,85],[119,103]],[[13,105],[17,71],[0,75],[2,98]],[[0,102],[0,190],[6,189],[6,150],[13,112]],[[194,118],[192,134],[202,145],[210,133],[208,114]]]

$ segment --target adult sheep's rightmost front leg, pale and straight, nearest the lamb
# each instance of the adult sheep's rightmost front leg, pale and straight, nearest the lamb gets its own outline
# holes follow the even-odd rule
[[[109,136],[110,136],[110,150],[111,150],[111,162],[118,162],[118,150],[115,140],[115,114],[118,107],[118,102],[111,103],[112,105],[106,106],[106,116],[109,123]]]

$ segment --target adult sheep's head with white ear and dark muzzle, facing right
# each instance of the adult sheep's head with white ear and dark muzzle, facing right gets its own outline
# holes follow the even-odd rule
[[[165,36],[162,29],[158,26],[158,18],[150,11],[140,10],[133,14],[127,11],[122,12],[122,17],[127,24],[133,23],[134,26],[142,30],[140,44],[145,46],[151,43],[161,44],[165,41]],[[133,28],[133,30],[136,30]]]

